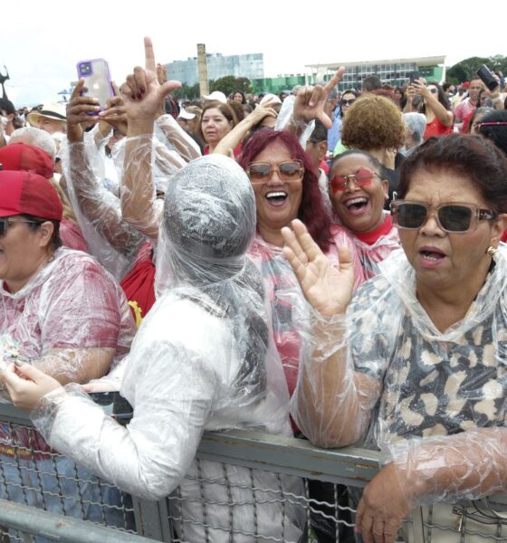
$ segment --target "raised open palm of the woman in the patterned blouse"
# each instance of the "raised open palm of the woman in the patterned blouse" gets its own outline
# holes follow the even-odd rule
[[[323,317],[344,313],[352,298],[354,265],[347,247],[340,248],[340,270],[320,251],[306,226],[296,219],[282,228],[283,255],[291,263],[306,300]]]

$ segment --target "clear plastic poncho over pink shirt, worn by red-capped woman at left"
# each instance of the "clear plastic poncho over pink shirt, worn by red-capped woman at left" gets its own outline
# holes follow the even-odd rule
[[[58,249],[20,291],[0,284],[2,366],[18,358],[84,383],[129,352],[134,332],[120,286],[83,252]]]

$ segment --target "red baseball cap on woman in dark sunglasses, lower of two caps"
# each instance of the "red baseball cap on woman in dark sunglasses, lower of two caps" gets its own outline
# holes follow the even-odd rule
[[[29,172],[0,171],[0,217],[31,214],[62,221],[62,201],[43,176]]]

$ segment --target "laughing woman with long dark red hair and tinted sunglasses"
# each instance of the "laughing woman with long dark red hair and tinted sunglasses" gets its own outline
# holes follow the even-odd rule
[[[292,303],[283,291],[292,289],[297,280],[282,257],[282,228],[299,218],[330,261],[339,266],[339,247],[347,246],[354,256],[357,273],[355,287],[364,281],[354,243],[345,228],[332,225],[326,214],[317,175],[310,157],[298,140],[287,131],[262,130],[244,146],[240,166],[244,167],[255,194],[257,234],[249,256],[271,285],[273,331],[276,346],[289,386],[296,385],[301,337],[292,326]]]

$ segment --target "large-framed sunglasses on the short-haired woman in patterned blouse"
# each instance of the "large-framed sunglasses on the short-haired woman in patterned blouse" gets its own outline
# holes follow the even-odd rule
[[[434,207],[410,200],[391,202],[393,223],[406,230],[417,230],[425,224],[430,210],[435,210],[438,226],[449,233],[474,232],[478,221],[493,221],[496,218],[493,209],[481,209],[474,204],[447,203]]]

